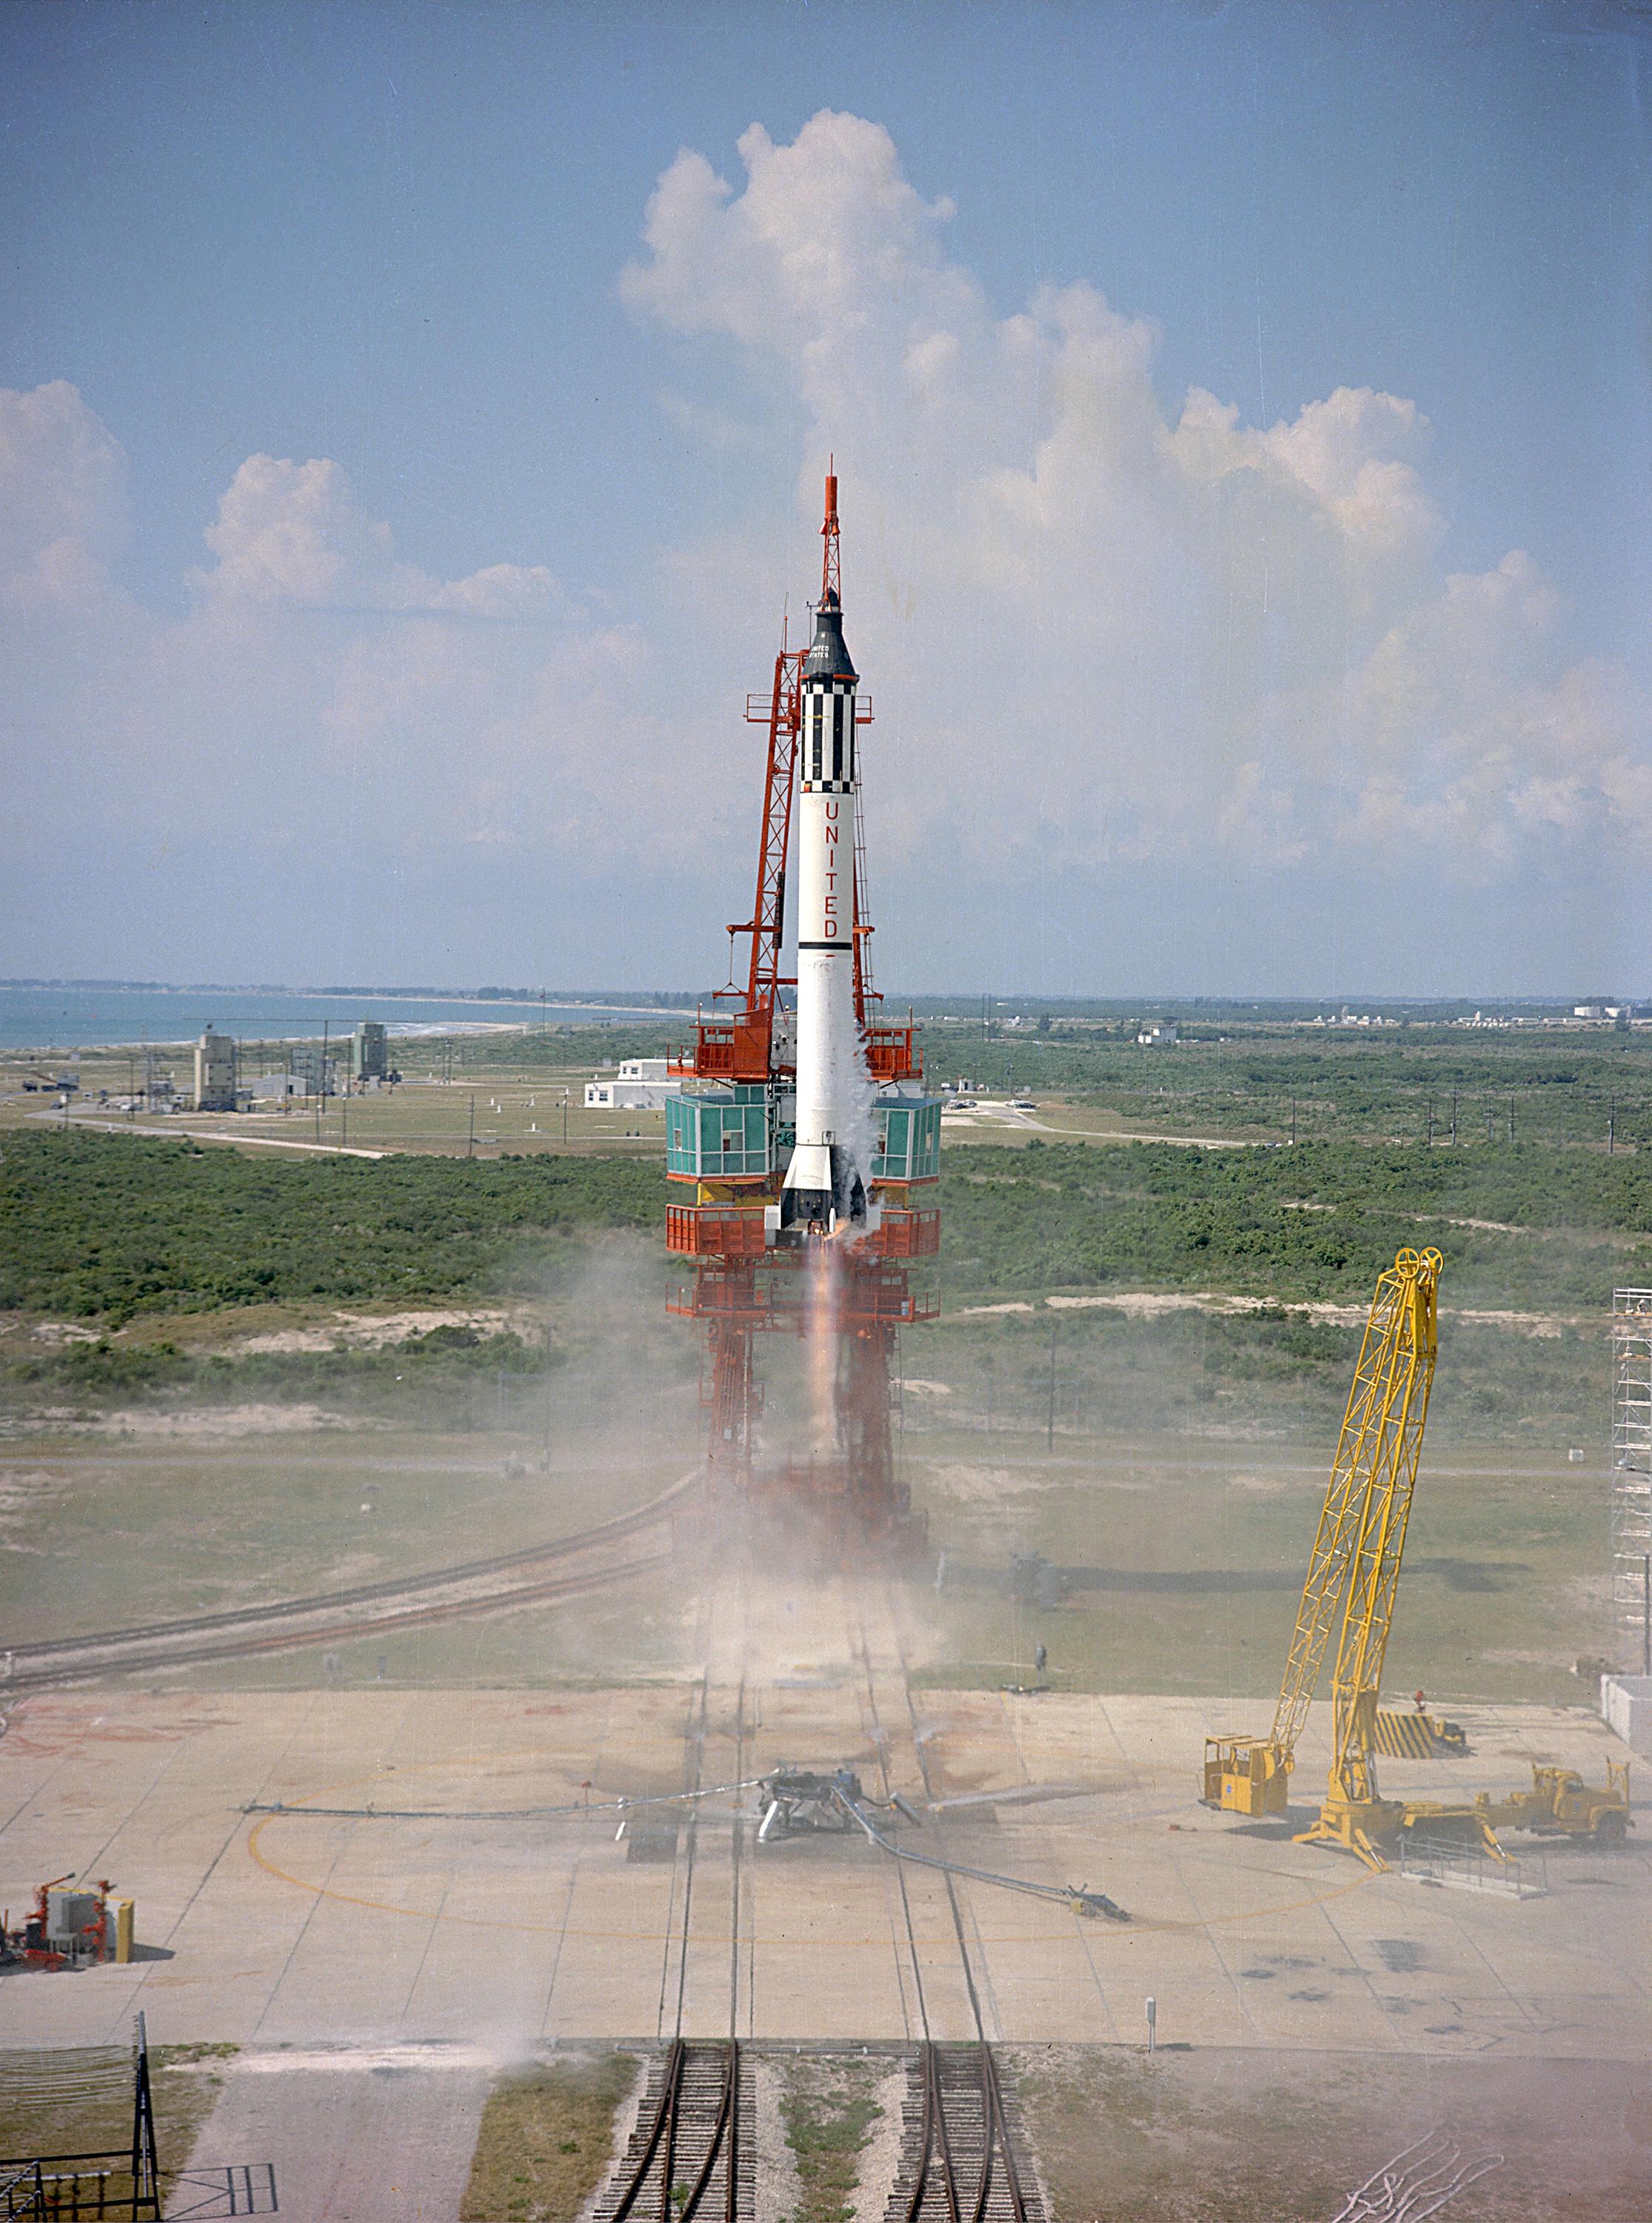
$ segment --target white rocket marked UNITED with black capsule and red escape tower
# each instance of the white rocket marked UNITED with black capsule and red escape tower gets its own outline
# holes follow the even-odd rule
[[[796,1236],[867,1223],[872,1083],[854,1009],[854,758],[858,674],[843,640],[838,480],[825,485],[825,582],[803,658],[798,727],[796,1147],[780,1227]]]

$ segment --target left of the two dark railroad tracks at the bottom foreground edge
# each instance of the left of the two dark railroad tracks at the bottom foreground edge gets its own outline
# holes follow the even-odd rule
[[[636,2130],[594,2223],[689,2223],[754,2214],[752,2145],[743,2136],[745,2065],[736,2038],[674,2038],[656,2054]]]

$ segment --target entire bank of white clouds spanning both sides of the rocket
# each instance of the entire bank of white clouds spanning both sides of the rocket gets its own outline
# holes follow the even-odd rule
[[[1167,393],[1156,322],[1094,285],[998,313],[947,251],[952,202],[876,122],[825,111],[792,144],[754,124],[738,151],[738,182],[687,149],[667,167],[620,293],[680,336],[680,387],[703,367],[665,398],[678,429],[756,478],[785,458],[798,518],[836,451],[880,720],[874,865],[903,858],[914,909],[945,916],[961,876],[1158,871],[1181,905],[1361,869],[1399,916],[1419,856],[1476,889],[1648,858],[1643,691],[1568,654],[1530,554],[1443,567],[1414,398],[1350,365],[1247,425],[1205,387]],[[102,825],[165,860],[256,838],[380,887],[445,854],[547,885],[616,869],[649,949],[663,856],[743,885],[756,771],[727,705],[807,580],[807,525],[787,545],[754,502],[649,551],[645,620],[545,567],[434,576],[338,460],[256,453],[202,518],[178,614],[118,585],[127,500],[73,387],[0,393],[7,740],[36,860]]]

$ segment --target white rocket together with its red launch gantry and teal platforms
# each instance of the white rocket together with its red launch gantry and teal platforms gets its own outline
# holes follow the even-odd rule
[[[671,1056],[685,1089],[667,1103],[680,1203],[665,1243],[696,1265],[671,1309],[705,1323],[714,1512],[754,1505],[825,1541],[898,1541],[912,1523],[892,1383],[900,1327],[936,1314],[909,1263],[941,1247],[941,1212],[923,1203],[941,1174],[941,1103],[912,1020],[883,1018],[872,987],[856,762],[872,705],[843,640],[836,476],[820,538],[814,638],[783,645],[769,694],[747,698],[747,722],[769,729],[756,903],[727,929],[729,985]],[[794,818],[796,971],[783,974]],[[829,1336],[834,1441],[758,1467],[754,1343],[769,1332]]]

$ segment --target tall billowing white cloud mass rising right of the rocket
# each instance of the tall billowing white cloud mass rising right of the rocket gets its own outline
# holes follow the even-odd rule
[[[738,147],[738,189],[691,151],[665,171],[623,293],[780,373],[800,502],[836,449],[903,838],[945,820],[994,863],[1076,867],[1423,843],[1470,878],[1645,851],[1645,700],[1565,665],[1523,551],[1441,576],[1414,400],[1345,385],[1267,427],[1198,387],[1167,405],[1158,327],[1092,285],[994,316],[878,124]],[[736,602],[767,554],[718,545]]]

